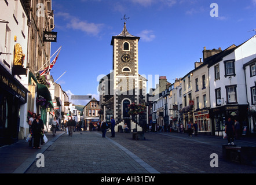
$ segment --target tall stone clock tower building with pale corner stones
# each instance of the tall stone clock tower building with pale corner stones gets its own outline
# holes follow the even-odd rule
[[[147,105],[147,79],[138,73],[138,40],[140,37],[129,34],[126,23],[119,35],[112,36],[112,72],[104,76],[98,86],[103,110],[101,119],[109,122],[113,116],[115,131],[120,126],[124,128],[125,123],[131,131],[135,128],[142,131],[142,127],[147,125],[146,113],[136,117],[128,113],[131,103]]]

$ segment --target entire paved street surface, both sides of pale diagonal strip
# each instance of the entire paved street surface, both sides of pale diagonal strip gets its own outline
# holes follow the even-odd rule
[[[35,162],[25,173],[255,173],[256,167],[226,161],[218,136],[186,133],[147,132],[145,140],[134,140],[131,133],[116,133],[102,138],[101,132],[64,131],[45,152],[44,167]],[[256,140],[241,138],[237,146],[255,146]],[[38,150],[38,153],[40,150]],[[217,154],[217,158],[210,158]],[[215,159],[217,167],[211,167]],[[215,164],[216,165],[216,164]]]

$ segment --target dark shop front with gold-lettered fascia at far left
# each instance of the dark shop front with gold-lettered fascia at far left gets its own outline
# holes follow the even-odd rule
[[[19,140],[20,109],[27,102],[28,90],[2,65],[0,89],[0,146],[3,146]]]

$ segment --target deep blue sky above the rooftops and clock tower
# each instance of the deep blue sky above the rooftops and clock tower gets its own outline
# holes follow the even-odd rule
[[[204,46],[240,45],[256,28],[256,0],[53,0],[52,9],[58,32],[52,54],[62,48],[50,75],[57,80],[66,71],[56,83],[68,95],[96,99],[98,78],[112,69],[111,38],[122,32],[125,14],[128,32],[141,37],[140,75],[166,76],[170,83],[194,68]]]

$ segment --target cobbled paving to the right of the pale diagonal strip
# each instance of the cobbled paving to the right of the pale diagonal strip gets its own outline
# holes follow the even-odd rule
[[[189,138],[186,134],[145,133],[146,140],[133,140],[131,134],[114,138],[160,173],[256,173],[255,166],[236,164],[222,158],[226,140],[216,137]],[[207,139],[207,140],[206,140]],[[218,167],[210,166],[210,155],[218,155]]]

